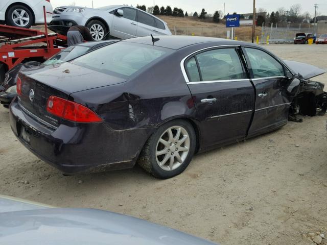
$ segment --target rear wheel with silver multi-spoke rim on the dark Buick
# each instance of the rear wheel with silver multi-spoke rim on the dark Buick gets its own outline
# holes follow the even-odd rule
[[[138,164],[156,178],[179,175],[190,164],[196,147],[196,134],[185,120],[162,125],[146,142]]]

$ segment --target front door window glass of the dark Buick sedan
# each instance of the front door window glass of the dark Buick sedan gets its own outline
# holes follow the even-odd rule
[[[281,63],[271,55],[256,48],[245,48],[249,57],[254,78],[283,77],[284,69]]]

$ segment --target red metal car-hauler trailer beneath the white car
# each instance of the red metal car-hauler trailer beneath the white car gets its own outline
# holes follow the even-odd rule
[[[0,24],[0,84],[5,73],[19,63],[43,62],[66,46],[67,37],[58,33]]]

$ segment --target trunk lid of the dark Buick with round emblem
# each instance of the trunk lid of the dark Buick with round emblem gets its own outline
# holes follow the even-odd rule
[[[56,117],[46,110],[49,96],[55,95],[68,99],[69,94],[117,83],[126,79],[113,77],[71,63],[62,63],[27,69],[20,72],[22,89],[18,103],[23,110],[58,127],[64,119]]]

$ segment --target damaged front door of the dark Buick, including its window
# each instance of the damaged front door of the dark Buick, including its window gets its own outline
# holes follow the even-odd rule
[[[286,67],[264,50],[244,47],[252,83],[255,86],[255,111],[249,136],[261,134],[287,123],[291,96]]]

